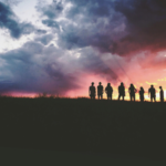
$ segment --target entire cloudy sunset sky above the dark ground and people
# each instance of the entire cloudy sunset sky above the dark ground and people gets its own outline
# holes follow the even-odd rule
[[[0,94],[89,96],[110,82],[117,98],[124,82],[126,98],[133,83],[158,100],[165,64],[163,0],[0,0]]]

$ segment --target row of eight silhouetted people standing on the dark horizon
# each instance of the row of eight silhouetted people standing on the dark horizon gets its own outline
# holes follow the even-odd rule
[[[97,96],[98,96],[98,100],[103,98],[103,93],[104,93],[103,89],[104,87],[103,87],[102,83],[100,82],[98,86],[97,86]],[[164,102],[164,91],[163,91],[162,86],[159,86],[159,89],[160,89],[159,98],[160,98],[160,102]],[[135,102],[135,93],[136,92],[137,92],[137,90],[134,87],[133,84],[131,84],[131,86],[128,87],[128,93],[129,93],[131,101]],[[91,98],[94,100],[95,96],[96,96],[96,91],[95,91],[94,82],[92,82],[92,85],[90,86],[89,93],[90,93]],[[107,86],[105,87],[105,93],[107,95],[107,100],[112,101],[113,87],[111,86],[111,83],[107,83]],[[141,102],[144,102],[144,93],[145,93],[145,91],[144,91],[144,89],[142,86],[141,86],[141,90],[139,90],[138,93],[139,93],[139,100],[141,100]],[[156,90],[154,89],[153,85],[151,85],[151,87],[148,89],[148,96],[149,96],[149,94],[151,94],[151,102],[153,102],[153,100],[156,102]],[[118,86],[118,101],[120,101],[121,97],[124,101],[124,97],[125,97],[125,86],[124,86],[123,82]]]

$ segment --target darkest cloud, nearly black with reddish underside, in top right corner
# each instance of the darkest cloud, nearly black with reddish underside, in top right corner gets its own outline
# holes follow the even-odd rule
[[[163,0],[116,0],[115,9],[126,17],[128,35],[114,46],[120,54],[166,48],[166,2]],[[127,46],[128,45],[128,46]]]

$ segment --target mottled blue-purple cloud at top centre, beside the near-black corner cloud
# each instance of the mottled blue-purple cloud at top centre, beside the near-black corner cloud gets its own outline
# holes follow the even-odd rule
[[[89,0],[72,2],[66,18],[71,21],[60,21],[63,33],[59,43],[68,49],[94,46],[101,52],[111,52],[115,41],[125,37],[123,31],[124,17],[114,10],[112,0]]]

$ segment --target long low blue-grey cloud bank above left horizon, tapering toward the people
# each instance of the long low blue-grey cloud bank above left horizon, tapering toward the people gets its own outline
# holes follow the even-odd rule
[[[46,38],[45,34],[42,38]],[[50,35],[51,37],[51,35]],[[100,59],[92,48],[72,50],[44,46],[39,41],[29,41],[20,49],[0,53],[0,92],[50,93],[65,95],[69,91],[84,89],[80,79],[102,75],[116,81],[115,72]],[[77,58],[80,54],[80,58]],[[3,80],[9,83],[4,83]]]

